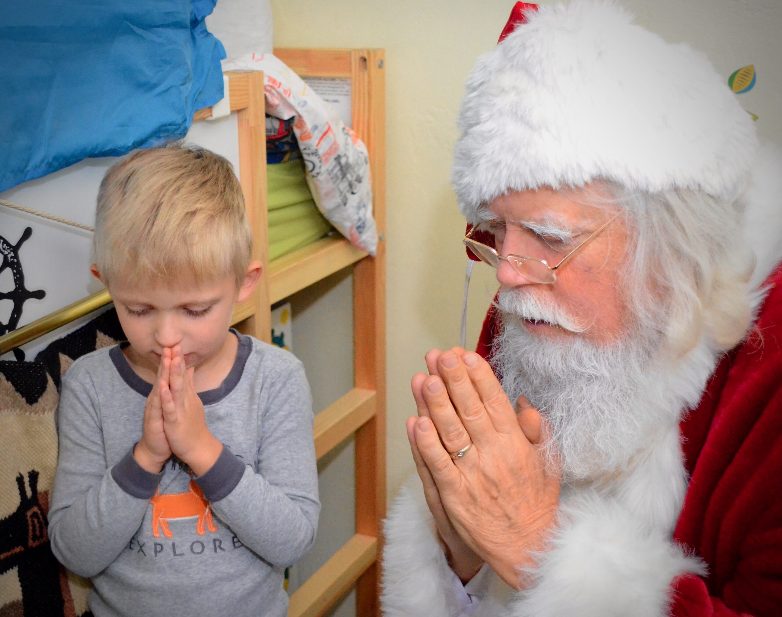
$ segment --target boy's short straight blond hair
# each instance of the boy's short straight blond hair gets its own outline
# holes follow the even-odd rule
[[[103,282],[197,282],[233,276],[253,253],[242,187],[231,163],[193,145],[136,152],[106,172],[95,213]]]

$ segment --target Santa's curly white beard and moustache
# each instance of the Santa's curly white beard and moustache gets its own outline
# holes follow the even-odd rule
[[[502,290],[498,307],[503,326],[491,362],[511,402],[523,394],[547,419],[547,452],[565,481],[622,472],[651,436],[675,421],[653,328],[633,328],[611,345],[578,335],[552,340],[529,332],[518,317],[561,323],[557,310],[518,289]]]

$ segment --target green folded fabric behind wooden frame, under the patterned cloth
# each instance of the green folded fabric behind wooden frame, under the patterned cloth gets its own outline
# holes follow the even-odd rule
[[[325,236],[332,224],[317,210],[302,160],[266,166],[269,208],[269,260]]]

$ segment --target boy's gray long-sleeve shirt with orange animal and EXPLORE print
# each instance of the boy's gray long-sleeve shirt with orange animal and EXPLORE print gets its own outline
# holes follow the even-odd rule
[[[59,561],[92,580],[95,617],[287,612],[284,569],[320,513],[312,399],[292,354],[232,332],[231,372],[199,393],[224,449],[198,478],[175,458],[152,474],[132,457],[152,386],[119,345],[63,378],[48,532]]]

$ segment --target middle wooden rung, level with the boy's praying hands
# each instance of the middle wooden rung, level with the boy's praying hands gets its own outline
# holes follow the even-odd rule
[[[375,390],[353,388],[315,416],[315,455],[327,454],[375,415]]]

